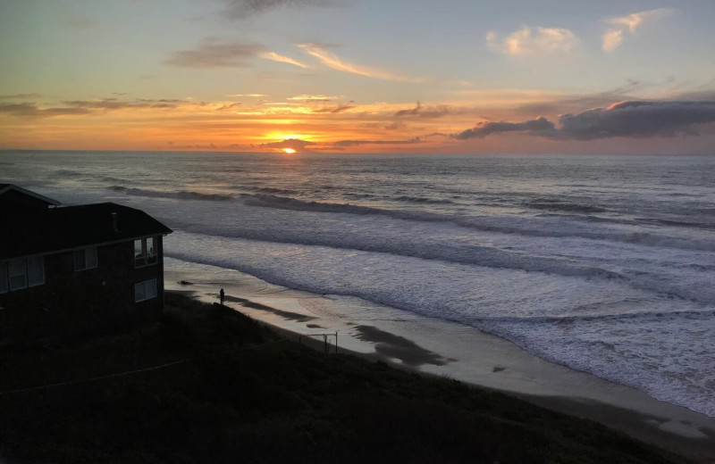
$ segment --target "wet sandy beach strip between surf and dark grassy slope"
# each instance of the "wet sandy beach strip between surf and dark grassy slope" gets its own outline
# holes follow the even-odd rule
[[[168,261],[167,291],[217,302],[224,288],[231,309],[318,350],[324,349],[323,337],[311,335],[337,332],[340,352],[497,390],[688,456],[715,459],[715,418],[537,358],[473,327],[425,319],[335,318],[328,297],[272,286],[230,269]],[[179,284],[182,280],[191,285]]]

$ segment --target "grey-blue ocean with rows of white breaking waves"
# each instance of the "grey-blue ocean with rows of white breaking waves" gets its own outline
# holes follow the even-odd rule
[[[714,174],[715,156],[0,152],[0,183],[152,214],[172,262],[473,327],[711,417]]]

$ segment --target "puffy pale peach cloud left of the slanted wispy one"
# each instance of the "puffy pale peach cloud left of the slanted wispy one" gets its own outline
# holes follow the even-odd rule
[[[578,39],[569,29],[524,26],[499,40],[495,32],[486,35],[486,43],[504,54],[534,55],[568,53],[576,48]]]

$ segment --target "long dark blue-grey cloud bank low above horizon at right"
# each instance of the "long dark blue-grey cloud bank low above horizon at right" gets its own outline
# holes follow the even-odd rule
[[[467,140],[503,132],[523,132],[558,140],[696,136],[697,125],[712,122],[715,122],[715,102],[712,101],[626,101],[562,114],[558,128],[543,117],[523,122],[485,121],[450,137]]]

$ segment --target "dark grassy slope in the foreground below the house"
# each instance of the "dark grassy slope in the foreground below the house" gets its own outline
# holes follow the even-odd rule
[[[686,460],[504,394],[277,341],[251,319],[167,295],[128,333],[6,353],[0,462]]]

